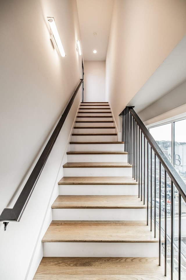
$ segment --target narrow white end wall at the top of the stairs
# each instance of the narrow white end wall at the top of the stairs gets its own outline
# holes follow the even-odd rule
[[[104,102],[105,61],[85,61],[84,81],[84,102]]]

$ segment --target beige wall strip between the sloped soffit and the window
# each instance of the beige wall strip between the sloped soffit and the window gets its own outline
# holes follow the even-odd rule
[[[155,121],[155,117],[163,115],[168,111],[172,111],[173,109],[180,107],[183,104],[186,104],[186,81],[155,101],[150,106],[146,107],[138,115],[142,121],[146,121],[152,118]],[[172,113],[169,118],[175,116],[175,114],[179,115],[182,113],[179,108],[175,112],[176,113]],[[158,121],[160,120],[163,120],[163,118],[159,119]]]

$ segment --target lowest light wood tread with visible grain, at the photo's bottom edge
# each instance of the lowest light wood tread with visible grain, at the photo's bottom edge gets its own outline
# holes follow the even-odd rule
[[[34,280],[170,280],[158,258],[42,258]]]

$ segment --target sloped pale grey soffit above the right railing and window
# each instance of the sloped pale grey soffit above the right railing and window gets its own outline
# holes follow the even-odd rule
[[[186,80],[186,35],[127,106],[139,113]]]

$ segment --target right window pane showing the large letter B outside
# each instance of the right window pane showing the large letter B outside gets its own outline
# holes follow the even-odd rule
[[[186,120],[175,122],[174,167],[186,182]]]

